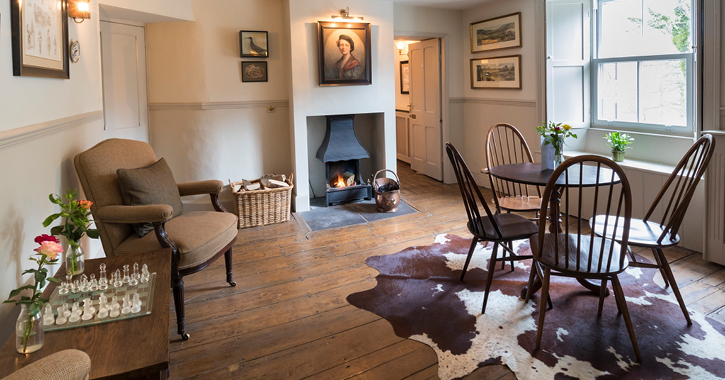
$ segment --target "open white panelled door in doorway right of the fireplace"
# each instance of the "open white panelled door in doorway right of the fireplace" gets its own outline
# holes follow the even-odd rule
[[[440,39],[408,45],[411,167],[443,180]]]

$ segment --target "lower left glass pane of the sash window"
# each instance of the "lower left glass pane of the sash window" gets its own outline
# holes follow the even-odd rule
[[[637,62],[599,65],[599,119],[637,122]]]

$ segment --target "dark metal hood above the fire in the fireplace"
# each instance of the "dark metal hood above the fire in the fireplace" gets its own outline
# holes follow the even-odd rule
[[[316,157],[322,162],[359,160],[370,158],[370,154],[360,145],[353,119],[355,115],[325,116],[327,130],[322,145],[317,149]]]

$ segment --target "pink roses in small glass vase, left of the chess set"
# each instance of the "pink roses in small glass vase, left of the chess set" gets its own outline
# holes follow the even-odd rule
[[[32,274],[35,283],[11,291],[8,299],[3,302],[20,305],[20,315],[15,324],[15,348],[21,354],[29,354],[43,347],[45,335],[40,310],[48,299],[41,295],[47,281],[60,282],[55,277],[48,277],[48,268],[43,266],[58,262],[58,255],[63,253],[63,247],[58,239],[45,234],[36,237],[35,242],[40,244],[40,247],[35,249],[37,253],[31,256],[30,260],[38,264],[38,269],[28,269],[23,272],[23,274]],[[30,297],[21,295],[24,290],[32,290],[33,294]],[[20,299],[16,298],[18,296]]]

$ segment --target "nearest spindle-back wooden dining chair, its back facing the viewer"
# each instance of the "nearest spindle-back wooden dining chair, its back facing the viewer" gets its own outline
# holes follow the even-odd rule
[[[594,165],[598,169],[595,181],[598,185],[589,188],[592,189],[589,191],[593,191],[591,202],[583,201],[584,187],[580,185],[580,173],[582,173],[582,167],[585,164]],[[565,179],[564,183],[557,184],[557,179],[562,176]],[[621,184],[615,184],[615,182],[618,182],[617,177],[621,180]],[[552,196],[560,197],[562,193],[565,200],[558,207],[564,215],[569,216],[569,218],[565,218],[567,223],[563,226],[562,231],[555,230],[553,233],[547,233],[545,223],[541,223],[539,233],[531,237],[531,251],[534,256],[534,269],[532,271],[536,270],[542,281],[541,299],[549,298],[549,280],[552,275],[601,280],[598,310],[598,315],[601,315],[607,282],[611,281],[617,307],[624,316],[624,322],[637,361],[641,361],[634,326],[627,310],[622,285],[617,277],[629,265],[627,242],[632,218],[632,191],[629,181],[627,181],[622,168],[606,157],[578,156],[564,161],[554,170],[544,189],[543,199],[550,199]],[[603,206],[605,204],[606,206]],[[542,202],[540,215],[547,215],[549,207],[549,202]],[[599,211],[603,212],[597,212],[600,207],[603,208]],[[612,222],[612,227],[605,227],[601,235],[595,234],[589,228],[582,230],[581,221],[586,221],[586,219],[582,219],[582,215],[590,210],[595,211],[594,215],[603,214],[603,216],[598,216],[596,219],[603,218],[605,225]],[[573,223],[569,222],[572,220]],[[615,231],[620,227],[623,232],[619,242],[617,242],[614,239]],[[529,291],[526,300],[531,297],[532,285],[533,276],[529,280]],[[541,346],[545,317],[546,304],[540,302],[536,348],[534,350],[538,350]]]

